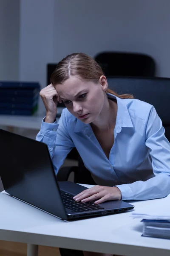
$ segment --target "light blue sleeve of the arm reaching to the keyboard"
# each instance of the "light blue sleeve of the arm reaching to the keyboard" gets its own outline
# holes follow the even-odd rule
[[[152,106],[146,120],[145,145],[150,150],[155,177],[116,186],[122,192],[122,200],[148,200],[170,194],[170,143],[164,131],[161,119]]]

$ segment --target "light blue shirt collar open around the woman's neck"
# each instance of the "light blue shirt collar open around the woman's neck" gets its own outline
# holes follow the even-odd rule
[[[127,109],[127,105],[124,102],[124,99],[120,99],[119,97],[107,93],[108,99],[116,99],[117,100],[117,116],[116,116],[116,131],[120,132],[122,130],[122,127],[133,127],[132,121],[130,119],[130,114]],[[74,132],[79,131],[88,131],[89,124],[84,124],[82,121],[77,119]],[[91,126],[90,126],[91,128]]]

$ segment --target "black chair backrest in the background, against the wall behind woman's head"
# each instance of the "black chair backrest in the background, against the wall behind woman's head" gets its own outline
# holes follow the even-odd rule
[[[106,76],[155,76],[155,61],[145,54],[101,52],[94,58]]]

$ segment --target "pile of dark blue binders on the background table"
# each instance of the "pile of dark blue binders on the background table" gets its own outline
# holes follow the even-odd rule
[[[38,82],[0,81],[0,114],[31,116],[38,109]]]

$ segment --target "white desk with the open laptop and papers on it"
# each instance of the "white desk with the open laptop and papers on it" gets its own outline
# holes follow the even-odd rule
[[[170,196],[133,201],[135,209],[170,204]],[[130,256],[169,256],[170,240],[142,237],[130,212],[67,222],[0,193],[0,240]]]

